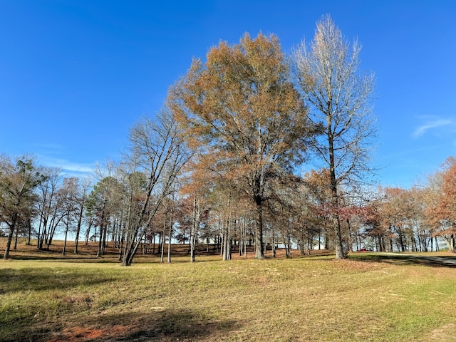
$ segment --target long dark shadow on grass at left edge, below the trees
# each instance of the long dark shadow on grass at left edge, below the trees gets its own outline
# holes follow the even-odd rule
[[[108,281],[115,281],[103,273],[93,274],[90,270],[78,270],[75,274],[70,269],[0,269],[0,294],[16,291],[47,291],[71,289],[77,286],[93,286]]]

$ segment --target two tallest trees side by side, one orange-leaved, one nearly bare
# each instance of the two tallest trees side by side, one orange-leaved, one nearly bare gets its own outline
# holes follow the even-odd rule
[[[333,205],[343,179],[365,161],[361,147],[369,126],[364,105],[371,84],[358,85],[358,50],[349,55],[331,18],[317,27],[311,51],[301,48],[294,55],[296,75],[290,73],[279,38],[246,33],[237,45],[222,42],[211,48],[205,63],[194,60],[170,88],[167,105],[189,145],[200,152],[195,168],[209,166],[256,208],[258,259],[264,257],[264,203],[271,199],[274,182],[286,182],[310,147],[330,170]],[[336,236],[342,239],[340,232]]]

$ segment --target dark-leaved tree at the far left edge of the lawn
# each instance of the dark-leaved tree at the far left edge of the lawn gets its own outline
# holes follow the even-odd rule
[[[24,219],[33,216],[33,208],[38,200],[36,187],[45,180],[33,160],[21,157],[14,165],[11,160],[0,160],[0,222],[9,227],[4,260],[9,259],[11,240]]]

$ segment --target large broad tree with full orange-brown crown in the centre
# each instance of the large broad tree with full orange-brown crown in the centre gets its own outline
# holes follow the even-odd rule
[[[246,33],[237,45],[219,43],[206,63],[192,62],[187,76],[170,89],[168,103],[191,144],[203,145],[212,157],[212,170],[254,203],[256,257],[263,259],[269,181],[303,160],[306,138],[315,132],[290,81],[279,39]]]

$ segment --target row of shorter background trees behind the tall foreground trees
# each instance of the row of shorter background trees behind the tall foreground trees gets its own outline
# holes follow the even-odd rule
[[[58,169],[34,165],[26,157],[15,164],[4,157],[1,170],[1,219],[12,249],[18,237],[26,237],[28,244],[34,238],[38,249],[48,249],[58,232],[65,242],[71,234],[71,252],[76,254],[79,243],[95,240],[98,256],[111,244],[123,260],[133,241],[139,242],[140,252],[158,244],[162,261],[170,261],[166,244],[173,240],[189,244],[195,261],[197,244],[217,245],[222,258],[230,259],[234,247],[242,255],[254,242],[255,208],[242,192],[214,182],[203,186],[176,179],[167,193],[152,193],[146,210],[147,219],[153,219],[137,233],[131,221],[140,219],[144,207],[147,180],[142,172],[109,165],[103,171],[110,175],[93,185],[94,177],[66,178]],[[287,255],[291,248],[302,254],[334,248],[328,178],[323,169],[275,185],[263,213],[262,248],[273,255],[277,245]],[[363,197],[343,192],[339,217],[346,250],[431,252],[443,241],[455,252],[455,185],[456,159],[450,157],[425,185],[410,190],[379,187]],[[64,244],[62,253],[66,252]]]

